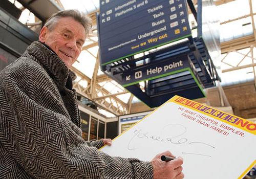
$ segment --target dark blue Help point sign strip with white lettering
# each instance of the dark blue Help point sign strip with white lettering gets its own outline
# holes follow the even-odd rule
[[[170,75],[170,73],[188,68],[189,61],[187,55],[174,57],[172,60],[165,60],[161,63],[150,63],[140,69],[122,74],[123,86],[129,86],[140,81],[156,79]]]

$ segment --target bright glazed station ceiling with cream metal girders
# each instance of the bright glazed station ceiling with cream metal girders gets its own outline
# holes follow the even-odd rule
[[[40,21],[22,4],[9,0],[23,9],[20,21],[37,30]],[[23,2],[29,0],[23,0]],[[41,1],[41,0],[37,0]],[[93,20],[93,29],[83,46],[81,55],[73,65],[78,78],[74,84],[77,92],[94,101],[100,113],[107,117],[130,114],[133,104],[139,102],[117,82],[104,75],[99,68],[96,13],[99,0],[48,0],[60,9],[78,9]],[[197,1],[193,1],[197,5]],[[256,0],[216,0],[216,15],[220,19],[221,84],[231,85],[247,81],[256,84]],[[193,15],[189,15],[193,23]],[[195,23],[195,22],[194,22]],[[232,77],[232,78],[230,78]],[[143,84],[141,83],[142,87]],[[143,104],[141,104],[143,105]]]

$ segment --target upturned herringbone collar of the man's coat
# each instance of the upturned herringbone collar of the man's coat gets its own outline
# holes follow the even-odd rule
[[[76,79],[73,71],[48,46],[34,41],[27,48],[23,56],[34,56],[35,60],[47,71],[51,78],[55,78],[60,86],[65,86],[69,75],[72,81]]]

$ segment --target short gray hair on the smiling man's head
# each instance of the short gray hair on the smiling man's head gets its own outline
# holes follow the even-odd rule
[[[52,16],[46,21],[45,27],[52,31],[58,24],[58,20],[61,17],[72,17],[74,20],[78,21],[78,23],[80,23],[86,31],[86,36],[88,36],[92,28],[92,21],[90,17],[76,9],[63,10],[52,14]]]

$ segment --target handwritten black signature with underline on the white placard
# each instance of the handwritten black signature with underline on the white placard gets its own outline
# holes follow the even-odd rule
[[[170,144],[174,144],[174,145],[199,144],[199,145],[203,145],[203,146],[207,146],[212,149],[215,149],[215,147],[212,146],[211,144],[207,144],[207,143],[201,142],[201,141],[190,141],[189,139],[182,137],[186,133],[187,129],[185,126],[183,126],[181,124],[168,124],[168,125],[164,126],[160,131],[161,131],[161,135],[156,136],[156,135],[152,135],[148,131],[143,131],[142,129],[136,129],[134,131],[134,135],[132,136],[131,140],[129,141],[129,143],[127,145],[127,149],[128,150],[138,149],[138,146],[136,147],[136,146],[132,145],[132,143],[136,139],[151,140],[151,141],[155,141],[155,142],[170,143]],[[164,137],[161,137],[161,136],[164,136]],[[211,155],[207,155],[204,153],[194,153],[194,152],[181,152],[181,153],[211,157]]]

